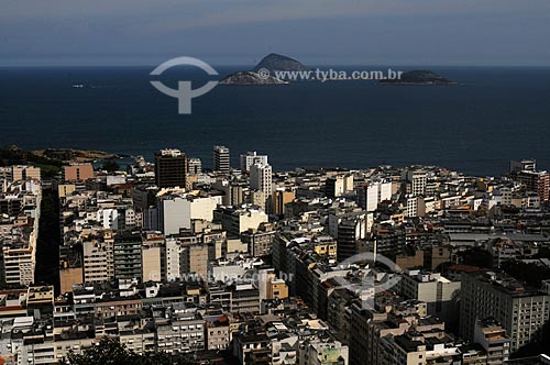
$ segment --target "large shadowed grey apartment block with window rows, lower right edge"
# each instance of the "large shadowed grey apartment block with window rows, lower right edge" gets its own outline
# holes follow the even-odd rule
[[[529,343],[550,318],[550,296],[493,272],[462,274],[460,333],[474,339],[476,321],[494,317],[510,338],[510,352]]]

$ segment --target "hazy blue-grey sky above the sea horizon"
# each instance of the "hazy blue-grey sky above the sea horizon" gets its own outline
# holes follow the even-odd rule
[[[550,66],[549,0],[0,0],[0,66]]]

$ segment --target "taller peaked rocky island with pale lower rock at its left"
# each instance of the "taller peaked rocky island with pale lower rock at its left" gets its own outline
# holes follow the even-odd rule
[[[250,71],[239,71],[228,75],[223,78],[221,85],[285,85],[287,80],[277,78],[276,71],[304,71],[309,70],[298,60],[283,56],[276,53],[271,53]]]

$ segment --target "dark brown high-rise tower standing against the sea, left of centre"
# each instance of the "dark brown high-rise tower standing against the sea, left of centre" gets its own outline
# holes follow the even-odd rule
[[[161,150],[155,154],[155,179],[160,188],[185,188],[187,157],[179,150]]]

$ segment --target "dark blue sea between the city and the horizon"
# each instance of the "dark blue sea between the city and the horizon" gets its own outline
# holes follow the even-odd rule
[[[444,87],[218,86],[194,100],[191,115],[150,85],[152,68],[0,68],[0,145],[146,157],[175,146],[205,167],[212,145],[224,144],[235,166],[256,150],[276,169],[435,164],[497,175],[522,157],[550,168],[550,68],[430,68],[460,82]]]

